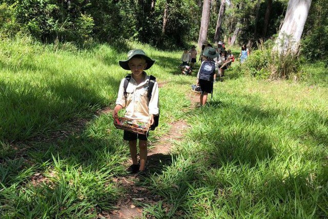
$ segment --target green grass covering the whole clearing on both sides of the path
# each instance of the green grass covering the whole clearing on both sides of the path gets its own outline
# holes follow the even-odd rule
[[[215,84],[208,106],[189,110],[195,74],[181,75],[176,68],[181,51],[137,43],[78,50],[25,39],[0,42],[2,218],[95,218],[125,196],[115,178],[126,174],[129,149],[112,115],[96,112],[114,106],[127,73],[118,61],[135,47],[156,59],[147,72],[161,86],[152,146],[175,121],[191,125],[176,142],[171,164],[151,169],[142,183],[160,197],[144,206],[145,217],[328,215],[322,65],[304,67],[311,77],[306,73],[295,83],[244,76],[235,62]]]

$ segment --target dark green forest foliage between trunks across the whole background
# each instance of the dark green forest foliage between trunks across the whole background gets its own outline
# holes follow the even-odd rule
[[[260,39],[274,37],[288,1],[224,1],[220,41],[256,48]],[[32,35],[44,43],[139,41],[161,49],[176,49],[197,42],[201,0],[114,0],[0,2],[0,36]],[[326,1],[312,1],[302,36],[307,59],[326,59],[328,9]],[[212,0],[208,39],[214,42],[221,1]],[[239,30],[236,32],[236,30]],[[237,40],[231,42],[231,38]]]

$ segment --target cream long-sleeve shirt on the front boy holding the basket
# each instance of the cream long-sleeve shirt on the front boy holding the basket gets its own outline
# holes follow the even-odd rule
[[[145,80],[138,85],[131,77],[127,87],[127,98],[124,96],[124,81],[125,78],[122,79],[119,85],[116,104],[126,108],[125,117],[148,123],[150,114],[158,115],[159,113],[157,82],[154,83],[152,97],[149,100],[147,96],[149,76],[147,74]]]

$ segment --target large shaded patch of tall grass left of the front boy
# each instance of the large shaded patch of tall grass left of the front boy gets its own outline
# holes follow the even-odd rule
[[[53,69],[43,70],[57,73]],[[118,87],[120,83],[111,76],[106,76],[104,81],[109,87]],[[50,135],[77,118],[90,118],[105,106],[106,100],[88,83],[79,83],[70,77],[49,79],[42,86],[29,82],[0,82],[0,141],[25,141]]]

